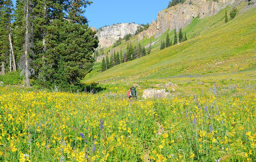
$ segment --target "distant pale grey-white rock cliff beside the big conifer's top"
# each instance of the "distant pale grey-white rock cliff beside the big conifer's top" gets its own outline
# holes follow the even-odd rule
[[[113,24],[112,26],[104,27],[97,33],[99,37],[99,46],[101,48],[113,45],[119,37],[123,38],[127,34],[135,34],[135,31],[141,27],[134,23]]]

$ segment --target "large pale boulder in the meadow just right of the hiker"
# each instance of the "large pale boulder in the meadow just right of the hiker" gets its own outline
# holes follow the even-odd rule
[[[148,88],[146,90],[143,91],[143,96],[142,98],[146,99],[146,98],[164,98],[168,96],[168,92],[165,91],[165,89],[162,90],[156,90],[156,89],[152,89],[152,88]]]

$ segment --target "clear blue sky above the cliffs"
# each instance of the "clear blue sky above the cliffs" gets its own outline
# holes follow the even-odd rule
[[[13,0],[15,3],[15,0]],[[151,23],[170,0],[92,0],[85,15],[89,26],[100,28],[114,23]]]

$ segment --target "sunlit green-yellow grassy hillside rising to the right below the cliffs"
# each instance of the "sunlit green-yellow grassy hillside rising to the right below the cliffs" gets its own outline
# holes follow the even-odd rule
[[[237,14],[228,23],[223,21],[224,12],[222,10],[205,19],[210,22],[203,19],[200,20],[201,24],[192,22],[183,30],[189,33],[188,37],[193,32],[194,35],[200,33],[199,36],[161,51],[157,47],[159,44],[155,44],[150,55],[114,66],[105,72],[99,72],[100,63],[97,63],[95,70],[85,80],[147,79],[255,70],[256,8]]]

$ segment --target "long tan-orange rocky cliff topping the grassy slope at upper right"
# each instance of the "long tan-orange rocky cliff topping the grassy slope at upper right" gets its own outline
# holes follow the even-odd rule
[[[142,40],[144,36],[147,38],[153,35],[159,37],[167,29],[184,28],[194,17],[198,16],[202,19],[205,16],[212,16],[233,2],[234,0],[187,0],[164,9],[158,13],[156,21],[153,20],[148,30],[139,34],[139,40]]]

